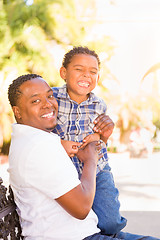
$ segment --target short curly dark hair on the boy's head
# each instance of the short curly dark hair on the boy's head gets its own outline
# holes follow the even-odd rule
[[[94,50],[90,50],[88,47],[82,47],[82,46],[73,47],[72,50],[67,52],[64,55],[62,66],[67,68],[68,64],[71,62],[72,57],[77,54],[88,54],[88,55],[94,56],[98,61],[98,67],[100,67],[101,63],[100,63],[98,54]]]

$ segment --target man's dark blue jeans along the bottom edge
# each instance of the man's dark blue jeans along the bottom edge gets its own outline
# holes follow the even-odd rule
[[[150,236],[143,236],[143,235],[136,235],[132,233],[125,233],[125,232],[119,232],[118,234],[115,234],[114,236],[107,236],[103,235],[102,233],[96,233],[92,236],[88,236],[84,238],[83,240],[159,240],[159,238],[150,237]]]

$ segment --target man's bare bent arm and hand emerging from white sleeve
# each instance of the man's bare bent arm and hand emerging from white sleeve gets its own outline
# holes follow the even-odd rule
[[[97,142],[79,150],[77,156],[84,163],[81,184],[56,199],[69,214],[78,219],[86,218],[93,204],[99,150],[100,144]]]

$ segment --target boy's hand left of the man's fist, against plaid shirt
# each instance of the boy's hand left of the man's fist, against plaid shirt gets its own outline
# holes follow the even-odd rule
[[[78,152],[78,147],[81,145],[79,142],[67,141],[61,139],[61,144],[66,150],[69,157],[74,157],[74,155]]]

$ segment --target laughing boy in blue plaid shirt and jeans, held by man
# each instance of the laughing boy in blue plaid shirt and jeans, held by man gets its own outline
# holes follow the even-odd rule
[[[74,47],[65,54],[60,76],[66,84],[53,88],[58,102],[58,120],[54,133],[61,137],[62,145],[71,157],[81,176],[83,164],[75,155],[77,148],[88,142],[103,140],[101,157],[97,164],[96,194],[93,210],[98,216],[98,226],[105,234],[115,234],[126,225],[120,216],[118,190],[108,165],[106,143],[113,131],[113,122],[104,115],[106,104],[92,90],[99,80],[100,60],[87,47]],[[94,125],[95,124],[95,125]]]

